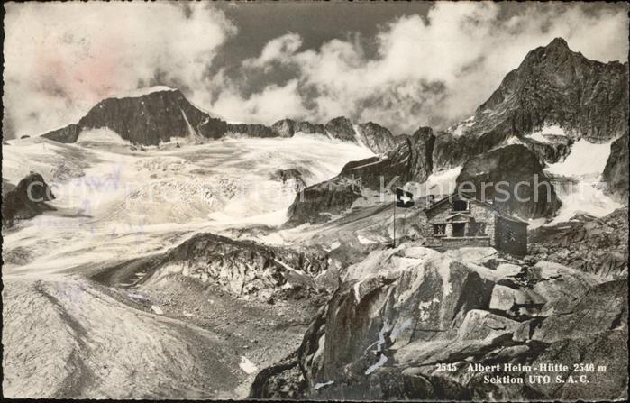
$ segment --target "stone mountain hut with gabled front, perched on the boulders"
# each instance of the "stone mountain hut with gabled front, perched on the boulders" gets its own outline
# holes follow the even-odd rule
[[[429,228],[425,245],[439,250],[492,246],[516,256],[527,254],[527,225],[501,215],[492,203],[469,194],[453,194],[425,208]]]

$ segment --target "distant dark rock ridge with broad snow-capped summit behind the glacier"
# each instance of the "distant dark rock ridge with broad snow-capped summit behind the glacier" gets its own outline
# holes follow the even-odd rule
[[[220,139],[225,136],[292,137],[295,133],[330,135],[343,142],[363,142],[379,154],[396,148],[402,137],[395,138],[378,124],[361,124],[361,135],[352,123],[338,117],[326,124],[311,124],[284,119],[272,126],[264,124],[228,124],[192,105],[179,90],[155,91],[143,96],[107,98],[82,117],[78,124],[45,133],[56,142],[77,142],[84,129],[108,128],[132,144],[158,145],[171,137],[200,136]]]

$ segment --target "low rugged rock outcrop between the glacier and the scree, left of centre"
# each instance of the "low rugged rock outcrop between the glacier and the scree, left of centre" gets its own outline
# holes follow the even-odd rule
[[[315,249],[288,249],[236,241],[215,234],[196,234],[151,263],[157,281],[172,273],[213,281],[236,295],[271,298],[290,283],[308,293],[313,277],[327,269],[327,255]]]

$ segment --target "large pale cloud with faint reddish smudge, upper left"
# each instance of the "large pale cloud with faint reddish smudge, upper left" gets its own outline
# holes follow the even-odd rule
[[[44,133],[105,96],[153,84],[203,98],[205,71],[237,32],[206,4],[5,5],[5,127]],[[159,83],[157,82],[159,81]]]

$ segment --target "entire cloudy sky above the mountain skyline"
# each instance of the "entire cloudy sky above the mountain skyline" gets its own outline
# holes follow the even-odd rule
[[[5,4],[5,138],[77,122],[101,99],[178,87],[230,122],[393,133],[474,114],[554,37],[625,62],[627,5],[516,2]]]

